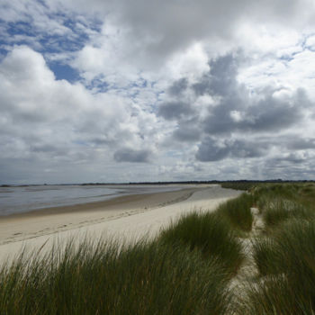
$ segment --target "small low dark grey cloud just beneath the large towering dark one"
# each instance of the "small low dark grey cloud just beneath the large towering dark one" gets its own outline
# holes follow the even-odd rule
[[[227,157],[263,157],[266,154],[266,143],[243,139],[225,139],[220,143],[218,140],[207,137],[202,140],[196,158],[202,162],[219,161]]]

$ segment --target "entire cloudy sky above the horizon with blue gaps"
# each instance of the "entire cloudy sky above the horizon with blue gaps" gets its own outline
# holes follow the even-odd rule
[[[314,0],[1,0],[0,184],[315,179]]]

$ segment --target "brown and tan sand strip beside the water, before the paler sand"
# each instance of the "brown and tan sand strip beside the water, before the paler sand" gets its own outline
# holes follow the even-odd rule
[[[201,187],[184,187],[172,192],[130,194],[101,202],[78,203],[2,216],[0,245],[149,211],[189,198],[200,189]]]

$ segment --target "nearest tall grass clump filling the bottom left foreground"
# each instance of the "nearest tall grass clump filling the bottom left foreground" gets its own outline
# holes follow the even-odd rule
[[[0,270],[1,314],[225,314],[227,275],[198,251],[68,244]]]

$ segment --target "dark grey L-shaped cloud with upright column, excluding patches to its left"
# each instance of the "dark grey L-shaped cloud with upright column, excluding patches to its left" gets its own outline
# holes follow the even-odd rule
[[[305,107],[311,105],[302,89],[297,89],[290,100],[282,100],[274,97],[276,89],[270,86],[261,91],[259,98],[253,98],[246,86],[238,84],[238,56],[224,56],[210,64],[210,74],[193,85],[196,94],[221,97],[219,105],[203,121],[206,133],[284,130],[302,121]],[[239,115],[238,119],[233,112]]]

